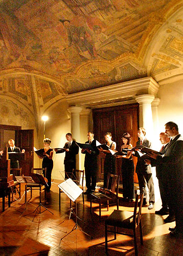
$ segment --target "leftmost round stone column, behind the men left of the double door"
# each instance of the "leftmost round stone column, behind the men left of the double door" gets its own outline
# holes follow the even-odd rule
[[[80,142],[80,112],[81,106],[70,106],[68,112],[71,113],[71,133],[73,138]],[[76,155],[76,168],[79,169],[79,155]]]

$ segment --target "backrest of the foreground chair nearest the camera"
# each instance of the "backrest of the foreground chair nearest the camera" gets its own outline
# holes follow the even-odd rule
[[[133,225],[138,226],[141,221],[141,211],[144,197],[144,187],[141,190],[140,195],[136,194],[135,197],[135,206],[133,211]],[[139,208],[139,210],[138,210]]]

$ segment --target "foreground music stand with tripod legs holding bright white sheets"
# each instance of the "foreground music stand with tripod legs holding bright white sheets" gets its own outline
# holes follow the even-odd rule
[[[76,223],[75,223],[74,227],[72,228],[72,230],[69,233],[65,234],[65,236],[62,237],[60,240],[64,239],[66,236],[68,236],[68,234],[70,234],[74,230],[77,231],[77,229],[79,229],[81,232],[83,232],[87,236],[91,237],[89,234],[87,234],[86,232],[84,232],[83,230],[78,228],[78,221],[77,221],[77,219],[79,217],[77,216],[77,198],[83,193],[83,190],[71,178],[67,179],[66,181],[64,181],[62,183],[60,183],[58,185],[58,187],[63,191],[63,193],[68,198],[70,198],[70,205],[71,205],[71,200],[73,202],[75,202],[75,205],[76,205],[75,212],[74,212],[73,208],[71,207],[71,209],[70,209],[70,217],[69,217],[69,220],[70,220],[71,214],[74,214],[75,217],[76,217],[76,219],[75,219]],[[76,254],[77,254],[77,232],[76,232]]]

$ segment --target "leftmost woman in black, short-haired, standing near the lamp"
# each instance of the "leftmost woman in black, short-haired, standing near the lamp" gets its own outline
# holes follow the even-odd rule
[[[52,141],[50,139],[44,139],[43,143],[44,143],[44,157],[42,159],[42,168],[47,168],[47,173],[46,175],[44,175],[45,178],[48,179],[48,187],[47,187],[47,191],[50,192],[50,188],[51,188],[51,177],[52,177],[52,169],[53,169],[53,150],[50,147],[50,143]],[[39,157],[42,158],[42,157]]]

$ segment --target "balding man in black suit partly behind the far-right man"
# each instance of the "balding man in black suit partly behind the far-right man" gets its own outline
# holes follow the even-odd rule
[[[161,133],[159,134],[159,140],[163,144],[160,152],[164,154],[169,144],[170,138],[167,136],[167,134]],[[146,163],[151,164],[151,166],[156,166],[156,177],[158,179],[159,192],[162,199],[162,208],[160,210],[156,210],[155,214],[168,215],[170,210],[170,216],[172,216],[172,221],[174,221],[175,220],[174,212],[171,210],[171,207],[168,206],[167,185],[166,185],[166,179],[165,179],[166,169],[163,168],[162,164],[156,165],[155,161],[156,160],[154,159],[146,160]],[[167,217],[164,221],[170,222],[170,217]]]

